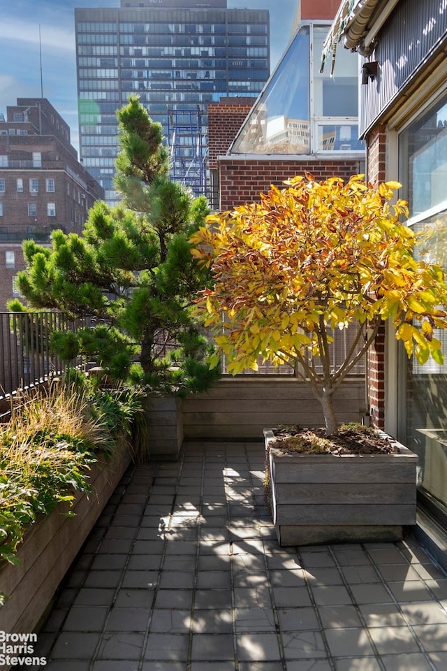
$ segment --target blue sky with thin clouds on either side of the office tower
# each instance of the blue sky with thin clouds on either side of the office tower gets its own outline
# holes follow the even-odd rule
[[[0,112],[20,97],[43,97],[71,127],[78,149],[75,7],[119,7],[119,0],[0,0]],[[270,10],[271,68],[291,33],[298,0],[228,0],[228,7]]]

